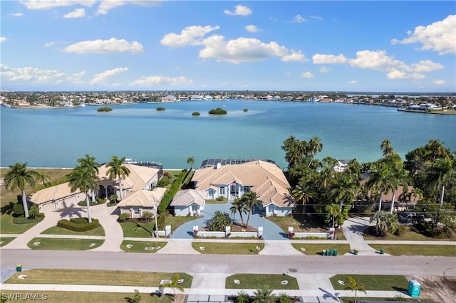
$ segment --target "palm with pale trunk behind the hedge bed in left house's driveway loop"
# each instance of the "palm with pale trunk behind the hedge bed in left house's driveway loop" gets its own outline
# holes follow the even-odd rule
[[[90,201],[88,201],[88,196],[90,191],[94,191],[98,187],[98,182],[100,178],[96,174],[93,174],[93,170],[88,166],[76,166],[73,171],[68,174],[70,177],[70,187],[71,192],[75,192],[77,189],[86,193],[86,204],[87,204],[87,216],[88,222],[92,222],[90,217]]]

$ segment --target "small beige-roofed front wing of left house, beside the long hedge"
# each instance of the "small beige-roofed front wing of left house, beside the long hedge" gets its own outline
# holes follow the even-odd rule
[[[142,218],[145,212],[156,213],[166,188],[156,187],[152,191],[135,191],[118,203],[120,214],[130,213],[131,218]]]

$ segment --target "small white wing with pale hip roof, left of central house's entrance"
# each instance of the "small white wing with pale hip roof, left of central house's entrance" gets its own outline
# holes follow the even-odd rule
[[[178,191],[170,206],[174,208],[175,216],[200,216],[207,199],[207,191],[189,188]]]

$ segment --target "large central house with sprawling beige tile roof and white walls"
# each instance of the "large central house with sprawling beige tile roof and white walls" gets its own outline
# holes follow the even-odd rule
[[[219,196],[234,199],[255,191],[261,202],[260,212],[266,216],[288,216],[295,207],[284,172],[276,164],[263,160],[204,166],[195,171],[192,187],[206,192],[209,199]]]

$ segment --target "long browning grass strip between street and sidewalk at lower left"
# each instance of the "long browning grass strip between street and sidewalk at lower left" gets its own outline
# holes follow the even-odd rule
[[[19,275],[27,275],[20,280]],[[172,280],[175,273],[170,272],[128,272],[121,270],[24,270],[16,272],[4,283],[10,284],[65,284],[65,285],[118,285],[158,287],[162,279]],[[179,272],[184,279],[182,287],[192,286],[191,275]],[[102,301],[104,302],[104,301]]]

